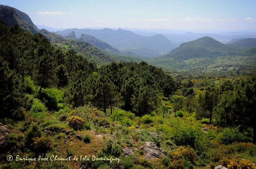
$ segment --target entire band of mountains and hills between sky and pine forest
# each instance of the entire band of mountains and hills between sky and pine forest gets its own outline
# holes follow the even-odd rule
[[[120,61],[137,62],[141,61],[140,56],[147,57],[144,60],[152,65],[179,70],[198,67],[218,70],[219,66],[232,67],[232,69],[233,67],[248,68],[255,63],[256,39],[253,37],[256,34],[253,33],[206,34],[210,36],[205,37],[201,37],[205,33],[191,32],[169,34],[169,37],[166,35],[169,39],[181,37],[180,42],[200,37],[183,42],[174,48],[175,45],[162,34],[146,37],[128,30],[108,28],[100,30],[75,28],[57,32],[49,32],[46,29],[39,30],[27,14],[5,5],[0,5],[0,19],[8,26],[18,24],[25,31],[42,33],[52,41],[54,46],[64,50],[74,50],[99,65]],[[251,37],[244,38],[246,36]],[[216,39],[212,37],[216,37]],[[232,37],[237,38],[230,39]],[[223,44],[217,39],[222,39],[222,42],[229,39],[228,44]],[[157,58],[150,59],[150,57]]]

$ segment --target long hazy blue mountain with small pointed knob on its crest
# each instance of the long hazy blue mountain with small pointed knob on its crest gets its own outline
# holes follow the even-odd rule
[[[113,47],[143,47],[157,51],[171,51],[174,48],[173,43],[161,34],[145,37],[127,30],[113,30],[113,29],[66,29],[64,31],[57,31],[62,36],[68,35],[69,32],[74,31],[76,36],[81,34],[91,35],[95,38],[101,39]]]

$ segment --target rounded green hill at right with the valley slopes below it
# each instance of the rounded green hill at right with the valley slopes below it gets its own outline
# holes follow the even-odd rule
[[[246,49],[224,45],[210,37],[186,42],[171,53],[149,59],[154,66],[171,70],[217,72],[255,69],[255,48]]]

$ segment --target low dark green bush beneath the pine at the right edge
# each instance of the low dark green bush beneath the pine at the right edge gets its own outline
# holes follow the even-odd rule
[[[248,141],[248,138],[246,138],[244,136],[244,134],[239,131],[238,127],[236,127],[236,128],[224,129],[219,134],[219,140],[220,140],[221,144],[231,144],[235,141],[246,142],[246,141]]]

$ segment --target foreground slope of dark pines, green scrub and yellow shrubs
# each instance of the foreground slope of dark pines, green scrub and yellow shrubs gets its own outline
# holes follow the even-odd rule
[[[97,67],[92,53],[63,43],[0,21],[1,168],[255,167],[255,74],[171,76],[146,62]]]

